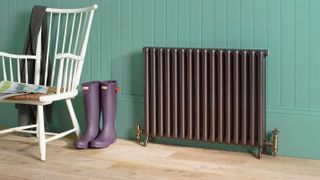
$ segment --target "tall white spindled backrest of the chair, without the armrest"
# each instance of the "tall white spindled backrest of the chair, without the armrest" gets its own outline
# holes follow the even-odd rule
[[[49,86],[57,87],[58,93],[74,91],[79,85],[93,14],[97,7],[93,5],[80,9],[47,8],[46,10],[48,45],[44,82],[47,82],[50,72],[48,59],[51,58],[53,64]],[[39,39],[40,36],[38,42]]]

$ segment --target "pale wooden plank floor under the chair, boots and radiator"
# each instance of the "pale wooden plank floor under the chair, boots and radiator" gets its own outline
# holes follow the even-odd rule
[[[319,160],[258,160],[249,153],[142,147],[121,139],[102,150],[74,150],[72,140],[57,140],[40,162],[35,140],[0,136],[0,179],[320,179]]]

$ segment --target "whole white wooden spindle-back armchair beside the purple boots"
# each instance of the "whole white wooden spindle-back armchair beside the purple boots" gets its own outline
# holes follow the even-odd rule
[[[5,81],[21,82],[21,62],[35,62],[34,84],[40,83],[40,63],[46,63],[44,86],[54,87],[50,94],[33,98],[9,98],[0,100],[0,103],[30,104],[37,106],[37,123],[28,126],[19,126],[1,130],[0,134],[10,132],[23,132],[36,134],[39,138],[40,159],[46,160],[46,143],[75,132],[80,136],[79,124],[74,112],[71,99],[77,96],[82,67],[86,55],[88,39],[97,5],[79,9],[47,8],[48,18],[48,49],[47,58],[41,59],[41,30],[38,35],[36,55],[14,55],[0,52],[0,73]],[[51,84],[46,84],[48,79],[48,59],[51,59]],[[2,68],[1,68],[2,66]],[[2,71],[2,72],[1,72]],[[25,77],[28,81],[28,66],[25,66]],[[23,97],[23,96],[22,96]],[[73,128],[62,133],[47,133],[44,126],[45,105],[54,101],[66,101]],[[28,130],[36,128],[35,131]],[[46,135],[51,136],[46,138]]]

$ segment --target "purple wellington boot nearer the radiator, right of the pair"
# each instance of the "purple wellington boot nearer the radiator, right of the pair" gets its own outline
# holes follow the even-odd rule
[[[92,148],[105,148],[116,140],[115,120],[118,91],[116,81],[101,82],[100,99],[103,125],[98,137],[90,142]]]

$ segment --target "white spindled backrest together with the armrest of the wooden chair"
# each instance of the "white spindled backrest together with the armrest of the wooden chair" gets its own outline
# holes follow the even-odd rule
[[[28,83],[28,62],[34,61],[34,84],[53,86],[57,93],[77,91],[86,55],[94,11],[97,5],[79,9],[47,8],[47,44],[41,52],[42,29],[38,34],[35,56],[12,55],[0,52],[1,76],[4,80],[22,82],[21,63],[25,64],[25,82]],[[45,57],[41,59],[41,54]],[[46,53],[46,54],[44,54]],[[50,61],[49,61],[50,60]],[[49,63],[50,62],[50,63]],[[45,66],[41,63],[45,63]],[[51,68],[49,68],[51,66]],[[42,75],[40,78],[41,67]],[[14,73],[16,71],[16,73]],[[44,74],[43,74],[44,72]],[[49,76],[51,78],[49,79]],[[44,78],[44,79],[43,79]],[[40,81],[41,80],[41,81]],[[41,82],[41,83],[40,83]],[[49,84],[47,82],[50,82]]]

